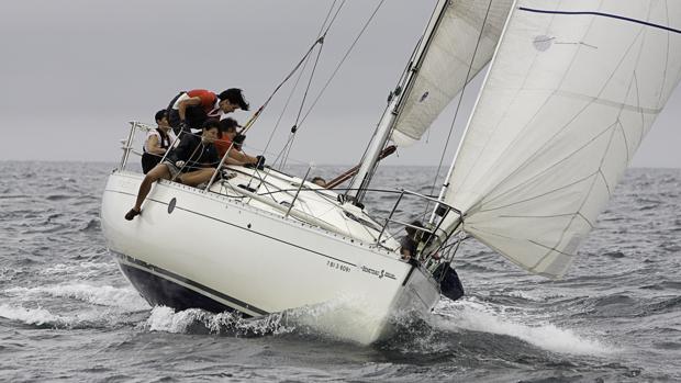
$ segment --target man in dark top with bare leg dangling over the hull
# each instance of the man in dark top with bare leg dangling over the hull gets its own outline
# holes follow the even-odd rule
[[[190,187],[209,181],[220,164],[213,145],[219,132],[219,122],[208,120],[203,124],[201,136],[185,133],[180,145],[168,154],[163,164],[158,164],[146,174],[139,185],[135,206],[125,214],[125,219],[132,221],[142,213],[142,203],[152,190],[152,184],[160,179],[179,181]]]

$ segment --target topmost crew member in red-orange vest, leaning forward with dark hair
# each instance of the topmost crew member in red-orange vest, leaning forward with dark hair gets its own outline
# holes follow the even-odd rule
[[[220,94],[205,89],[193,89],[180,92],[168,105],[168,122],[176,134],[200,129],[209,117],[220,119],[221,115],[235,110],[248,110],[248,102],[241,89],[230,88]]]

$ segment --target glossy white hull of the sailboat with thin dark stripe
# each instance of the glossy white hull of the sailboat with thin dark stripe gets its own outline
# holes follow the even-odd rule
[[[110,176],[101,219],[109,249],[152,304],[186,308],[188,297],[168,286],[191,292],[198,306],[250,316],[342,302],[335,323],[320,324],[322,330],[370,343],[387,334],[397,311],[429,312],[439,298],[429,274],[397,252],[268,212],[254,200],[161,181],[142,215],[127,222],[142,177]]]

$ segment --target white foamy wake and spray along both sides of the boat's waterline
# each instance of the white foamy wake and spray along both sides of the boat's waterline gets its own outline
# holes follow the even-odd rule
[[[233,337],[295,335],[330,340],[353,339],[362,331],[367,308],[345,297],[258,318],[238,313],[213,314],[191,308],[176,312],[148,304],[132,288],[71,283],[2,291],[10,303],[0,305],[0,317],[47,328],[134,326],[146,331],[213,334]],[[103,307],[103,309],[102,309]],[[137,314],[132,315],[131,314]],[[147,314],[148,313],[148,314]],[[560,328],[537,313],[476,297],[456,303],[442,301],[434,315],[403,313],[391,318],[393,335],[388,348],[437,352],[454,343],[492,342],[570,354],[602,356],[617,352],[598,336]],[[392,345],[392,346],[390,346]]]

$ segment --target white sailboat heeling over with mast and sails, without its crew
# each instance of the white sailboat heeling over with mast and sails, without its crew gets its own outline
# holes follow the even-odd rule
[[[135,123],[103,193],[108,247],[153,305],[258,317],[339,300],[332,330],[360,343],[435,306],[464,236],[560,278],[679,82],[680,29],[679,2],[438,1],[348,191],[228,166],[205,189],[158,182],[131,223]],[[439,195],[398,199],[435,206],[406,261],[390,227],[409,224],[362,203],[379,154],[418,140],[488,65]]]

